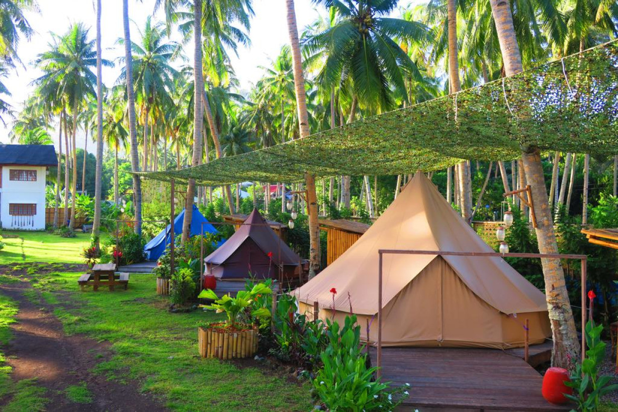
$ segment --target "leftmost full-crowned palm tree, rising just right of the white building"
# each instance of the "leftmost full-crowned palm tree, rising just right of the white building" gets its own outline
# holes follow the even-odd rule
[[[44,75],[35,80],[45,88],[49,86],[56,91],[62,99],[65,107],[70,110],[73,117],[72,145],[73,145],[73,182],[72,195],[77,194],[77,151],[75,149],[75,136],[77,133],[78,110],[87,95],[94,96],[94,84],[96,76],[90,67],[96,65],[96,53],[93,51],[95,41],[88,40],[88,30],[82,23],[76,23],[69,28],[64,36],[54,35],[55,43],[51,44],[51,50],[42,53],[36,60]],[[104,61],[106,65],[111,62]],[[75,224],[75,208],[71,209],[69,227],[73,229]]]

